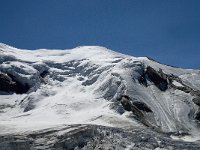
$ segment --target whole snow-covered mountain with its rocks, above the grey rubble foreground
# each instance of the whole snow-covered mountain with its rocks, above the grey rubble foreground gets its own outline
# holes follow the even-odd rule
[[[60,135],[69,133],[66,126],[90,126],[98,131],[122,129],[123,134],[170,133],[173,138],[196,141],[199,108],[199,70],[174,68],[99,46],[21,50],[0,44],[2,137],[47,129]],[[5,142],[0,143],[5,147]],[[78,148],[77,143],[70,148]],[[134,147],[128,144],[124,149]],[[81,148],[87,149],[86,145]]]

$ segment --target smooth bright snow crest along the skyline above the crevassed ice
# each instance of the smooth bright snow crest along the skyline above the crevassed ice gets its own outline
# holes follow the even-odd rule
[[[37,50],[21,50],[8,45],[3,44],[0,50],[5,55],[15,55],[18,53],[18,58],[25,61],[69,61],[81,60],[81,59],[92,59],[97,61],[109,60],[118,56],[128,57],[123,54],[116,53],[105,47],[100,46],[79,46],[74,49],[67,50],[48,50],[48,49],[37,49]],[[70,55],[69,55],[70,54]],[[29,56],[32,56],[32,59]],[[57,59],[59,58],[59,59]]]

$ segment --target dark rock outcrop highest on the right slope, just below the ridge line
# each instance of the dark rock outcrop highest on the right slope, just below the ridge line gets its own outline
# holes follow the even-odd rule
[[[165,91],[168,88],[167,78],[164,76],[162,71],[157,72],[152,67],[148,66],[146,74],[149,79],[161,90]]]

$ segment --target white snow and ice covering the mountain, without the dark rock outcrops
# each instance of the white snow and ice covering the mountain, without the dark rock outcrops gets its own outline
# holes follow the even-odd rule
[[[153,83],[138,82],[142,70],[151,66],[200,88],[198,70],[173,68],[99,46],[69,50],[21,50],[0,44],[0,72],[11,73],[32,88],[26,94],[1,94],[1,133],[33,131],[63,124],[97,124],[122,128],[145,128],[130,112],[112,107],[120,94],[147,104],[154,112],[149,122],[165,132],[199,132],[189,114],[198,110],[193,96],[180,90],[160,91]],[[41,83],[40,73],[48,71]],[[183,86],[174,81],[176,86]]]

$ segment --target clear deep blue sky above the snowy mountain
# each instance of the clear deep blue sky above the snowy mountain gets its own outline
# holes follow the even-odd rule
[[[99,45],[200,69],[200,0],[0,0],[0,42]]]

